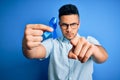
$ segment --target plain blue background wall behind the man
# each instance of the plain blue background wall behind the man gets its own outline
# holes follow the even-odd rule
[[[82,36],[93,36],[109,58],[94,63],[94,80],[120,80],[120,1],[118,0],[0,0],[0,80],[46,80],[48,60],[29,60],[22,54],[26,24],[48,24],[66,3],[80,12]],[[58,36],[61,36],[59,27]]]

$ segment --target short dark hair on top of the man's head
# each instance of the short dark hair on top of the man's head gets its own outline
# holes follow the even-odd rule
[[[73,4],[66,4],[63,5],[60,9],[59,9],[59,19],[61,16],[63,15],[71,15],[71,14],[77,14],[79,16],[79,12],[78,9],[75,5]]]

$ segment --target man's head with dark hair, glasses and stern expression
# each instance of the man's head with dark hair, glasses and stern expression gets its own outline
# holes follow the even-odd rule
[[[59,20],[63,35],[69,40],[73,39],[80,26],[77,7],[72,4],[63,5],[59,9]]]

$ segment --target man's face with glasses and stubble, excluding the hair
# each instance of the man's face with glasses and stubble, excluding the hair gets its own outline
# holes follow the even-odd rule
[[[80,26],[79,16],[75,14],[63,15],[60,17],[59,25],[63,35],[67,39],[71,40],[76,36],[78,32]]]

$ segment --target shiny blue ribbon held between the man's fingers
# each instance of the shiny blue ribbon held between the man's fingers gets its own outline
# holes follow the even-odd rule
[[[49,26],[52,27],[54,29],[54,31],[53,32],[49,32],[49,31],[44,32],[43,40],[46,40],[48,38],[55,39],[57,37],[57,34],[56,34],[57,19],[55,17],[51,18],[51,20],[49,21]]]

